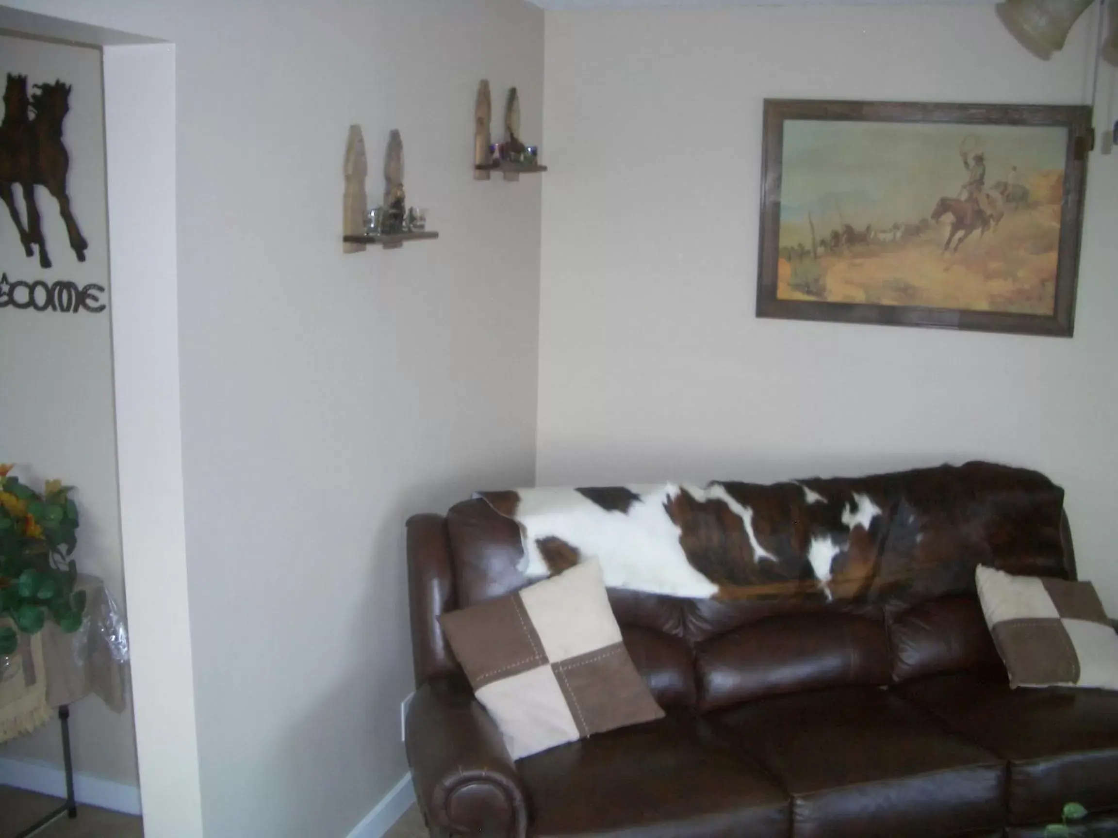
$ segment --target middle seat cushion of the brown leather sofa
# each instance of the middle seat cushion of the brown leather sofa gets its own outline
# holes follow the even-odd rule
[[[796,838],[939,838],[1003,823],[1005,763],[885,689],[764,698],[709,718],[790,792]]]

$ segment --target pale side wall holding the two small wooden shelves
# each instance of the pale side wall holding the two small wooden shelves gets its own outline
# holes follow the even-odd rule
[[[534,474],[538,179],[472,178],[487,76],[541,135],[521,0],[18,0],[177,73],[186,533],[207,836],[344,835],[405,771],[402,522]],[[401,130],[442,238],[341,254],[342,156]]]

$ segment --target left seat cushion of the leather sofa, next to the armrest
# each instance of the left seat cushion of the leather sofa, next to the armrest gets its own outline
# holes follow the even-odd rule
[[[787,838],[788,797],[682,715],[517,763],[532,836]]]

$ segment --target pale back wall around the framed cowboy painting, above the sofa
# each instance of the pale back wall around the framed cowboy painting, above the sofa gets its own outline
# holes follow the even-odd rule
[[[539,483],[1032,466],[1118,612],[1118,156],[1073,340],[754,316],[765,97],[1078,103],[1086,22],[1048,64],[989,6],[558,11],[546,39]]]

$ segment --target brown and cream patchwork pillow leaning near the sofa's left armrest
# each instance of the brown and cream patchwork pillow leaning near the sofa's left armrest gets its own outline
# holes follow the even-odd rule
[[[514,760],[664,715],[622,644],[597,562],[439,620]]]

